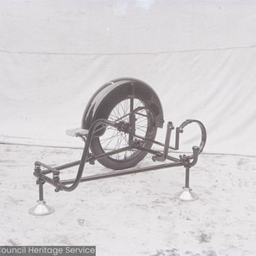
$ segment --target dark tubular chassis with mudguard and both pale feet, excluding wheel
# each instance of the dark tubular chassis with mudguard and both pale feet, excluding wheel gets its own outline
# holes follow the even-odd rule
[[[118,95],[118,98],[116,98]],[[116,99],[116,102],[121,102],[123,99],[130,99],[130,113],[127,113],[118,117],[115,121],[110,121],[104,118],[107,115],[104,114],[104,105],[111,104],[113,99]],[[143,106],[134,106],[134,99],[141,100],[143,102]],[[118,101],[119,100],[119,101]],[[102,104],[104,102],[104,104]],[[134,109],[136,108],[136,109]],[[170,136],[171,132],[175,130],[173,123],[167,123],[165,142],[160,143],[158,141],[153,140],[155,138],[155,134],[151,138],[142,137],[136,134],[136,117],[135,115],[141,115],[139,111],[145,110],[146,113],[150,114],[151,123],[147,124],[147,128],[151,127],[156,129],[158,127],[163,127],[163,111],[160,100],[155,93],[155,91],[148,86],[148,84],[144,83],[141,80],[135,78],[119,78],[112,80],[106,84],[104,84],[101,88],[99,88],[95,94],[92,96],[91,100],[88,102],[86,109],[82,118],[81,129],[71,130],[71,134],[75,134],[75,136],[80,137],[84,141],[84,148],[81,156],[81,160],[71,162],[68,164],[60,165],[57,167],[51,167],[48,164],[36,161],[34,163],[34,176],[37,178],[36,183],[39,185],[39,200],[38,204],[32,208],[30,208],[29,213],[32,215],[43,216],[51,214],[54,209],[50,206],[47,206],[44,201],[44,193],[43,193],[43,185],[45,182],[53,185],[55,187],[55,191],[58,192],[60,190],[63,191],[73,191],[80,182],[93,181],[98,179],[105,179],[116,176],[123,176],[135,173],[148,172],[150,170],[157,170],[175,166],[184,166],[186,169],[185,172],[185,186],[183,187],[183,191],[176,194],[176,198],[178,200],[184,201],[194,201],[198,199],[198,196],[195,193],[191,192],[189,188],[189,169],[191,166],[194,166],[197,163],[199,154],[203,151],[206,142],[206,130],[204,125],[195,119],[188,119],[184,121],[179,127],[176,128],[176,137],[175,137],[175,146],[170,146]],[[103,114],[102,114],[103,113]],[[122,120],[124,117],[129,116],[129,122]],[[190,123],[197,123],[201,129],[201,142],[199,146],[193,147],[193,154],[186,156],[181,155],[179,158],[170,156],[168,154],[169,150],[177,151],[179,150],[179,138],[180,134],[183,133],[183,129],[186,125]],[[94,155],[90,153],[90,145],[92,139],[94,137],[100,137],[105,132],[106,126],[115,127],[119,132],[124,132],[129,135],[129,141],[127,142],[127,146],[123,148],[119,148],[118,150],[113,150],[110,152],[105,152],[99,155]],[[100,129],[99,129],[100,127]],[[80,131],[81,130],[81,131]],[[79,132],[80,131],[80,132]],[[147,134],[145,135],[147,136]],[[146,143],[145,143],[146,142]],[[152,150],[150,147],[152,144],[157,144],[163,146],[163,152]],[[148,148],[147,148],[148,147]],[[83,177],[83,170],[86,163],[94,164],[96,160],[110,157],[112,155],[125,152],[127,150],[138,150],[144,151],[146,153],[152,154],[153,161],[164,162],[165,160],[169,160],[169,163],[163,163],[159,165],[146,166],[141,168],[133,168],[133,169],[124,169],[113,171],[110,173],[86,176]],[[103,152],[103,151],[102,151]],[[142,155],[141,155],[142,156]],[[134,159],[133,159],[134,160]],[[139,160],[139,159],[137,159]],[[138,161],[137,161],[138,162]],[[134,164],[136,161],[133,162]],[[78,170],[75,179],[69,180],[60,180],[60,170],[71,168],[78,165]],[[108,165],[106,165],[108,166]],[[113,166],[113,165],[109,165]],[[129,165],[126,165],[129,166]],[[130,165],[131,166],[131,165]],[[43,167],[44,169],[41,169]],[[52,178],[48,175],[52,174]]]

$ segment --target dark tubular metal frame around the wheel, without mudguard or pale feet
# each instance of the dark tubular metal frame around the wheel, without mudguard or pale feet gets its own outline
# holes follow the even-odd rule
[[[169,148],[172,150],[179,149],[180,133],[183,132],[183,129],[186,125],[188,125],[189,123],[193,123],[193,122],[198,123],[200,126],[200,129],[201,129],[200,146],[199,147],[194,146],[193,154],[190,156],[183,155],[183,156],[180,156],[179,158],[169,156],[168,155]],[[155,144],[164,146],[163,153],[145,148],[140,145],[138,140],[134,140],[134,143],[131,144],[130,146],[119,148],[118,150],[114,150],[114,151],[104,153],[104,154],[101,154],[98,156],[94,156],[94,155],[90,154],[89,147],[90,147],[90,143],[93,138],[96,127],[98,125],[110,125],[110,126],[115,127],[115,124],[116,124],[115,122],[112,122],[112,121],[109,121],[106,119],[98,119],[98,120],[94,121],[94,123],[91,125],[86,139],[84,138],[84,136],[82,136],[82,135],[79,136],[79,134],[78,134],[78,137],[81,137],[85,141],[82,157],[81,157],[81,160],[79,160],[79,161],[71,162],[71,163],[68,163],[65,165],[60,165],[60,166],[57,166],[54,168],[47,164],[41,163],[39,161],[35,162],[34,176],[37,178],[37,184],[39,184],[39,202],[42,202],[42,201],[44,202],[44,196],[42,193],[42,185],[45,182],[55,186],[56,192],[58,192],[60,190],[72,191],[78,186],[78,184],[80,182],[93,181],[93,180],[116,177],[116,176],[148,172],[150,170],[157,170],[157,169],[163,169],[163,168],[175,167],[175,166],[184,166],[186,168],[185,188],[189,188],[189,168],[191,166],[194,166],[197,163],[198,155],[203,151],[203,148],[204,148],[204,145],[206,142],[206,130],[205,130],[204,125],[200,121],[194,120],[194,119],[188,119],[188,120],[184,121],[179,127],[176,128],[175,147],[169,146],[170,134],[171,134],[171,131],[174,130],[174,126],[173,126],[172,122],[168,122],[165,143],[162,144],[160,142],[151,140]],[[146,138],[136,136],[136,135],[134,135],[134,137],[146,139]],[[117,153],[121,153],[121,152],[124,152],[124,151],[132,149],[132,148],[136,148],[137,150],[141,150],[141,151],[146,151],[146,152],[154,155],[152,157],[153,161],[164,161],[167,159],[172,162],[160,164],[160,165],[152,165],[152,166],[147,166],[147,167],[126,169],[126,170],[120,170],[120,171],[115,171],[115,172],[111,172],[111,173],[82,177],[84,165],[87,162],[89,162],[90,164],[94,164],[94,162],[100,158],[115,155]],[[60,170],[67,169],[67,168],[77,166],[77,165],[79,165],[79,167],[78,167],[78,172],[77,172],[75,179],[60,180],[60,177],[59,177]],[[46,169],[41,170],[41,167],[45,167]],[[50,178],[47,176],[50,173],[53,174],[53,178]],[[70,186],[67,186],[67,185],[70,185]]]

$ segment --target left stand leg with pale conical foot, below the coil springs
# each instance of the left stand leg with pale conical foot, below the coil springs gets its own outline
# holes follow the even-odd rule
[[[40,181],[37,181],[37,183],[39,185],[39,200],[37,201],[38,204],[29,209],[29,214],[35,216],[45,216],[52,214],[54,212],[54,208],[46,205],[46,202],[44,201],[44,184]]]

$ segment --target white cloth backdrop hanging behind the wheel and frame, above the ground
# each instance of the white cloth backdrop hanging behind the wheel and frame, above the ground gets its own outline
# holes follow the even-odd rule
[[[0,142],[82,146],[65,130],[93,92],[135,77],[165,121],[205,124],[206,153],[256,156],[255,13],[253,0],[0,0]]]

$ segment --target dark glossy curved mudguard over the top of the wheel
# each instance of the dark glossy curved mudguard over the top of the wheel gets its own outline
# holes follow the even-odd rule
[[[145,82],[135,78],[118,78],[105,83],[100,87],[88,102],[82,118],[82,129],[89,130],[92,123],[102,118],[101,104],[108,102],[111,98],[117,98],[118,95],[132,96],[132,87],[134,84],[134,97],[139,97],[147,104],[156,116],[157,127],[163,127],[163,110],[162,105],[156,92]]]

